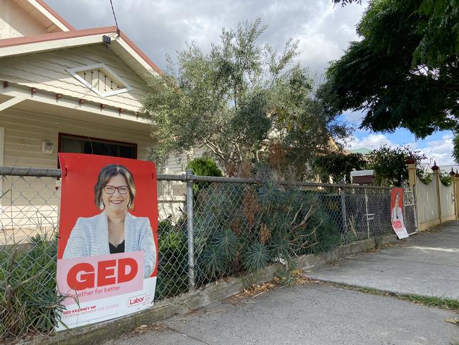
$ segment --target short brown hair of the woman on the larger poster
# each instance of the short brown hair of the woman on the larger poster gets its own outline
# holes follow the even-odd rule
[[[97,183],[94,186],[94,202],[97,208],[103,208],[102,202],[102,189],[107,185],[108,181],[117,175],[122,175],[126,179],[126,183],[129,189],[129,202],[128,209],[132,209],[134,206],[134,199],[136,198],[136,184],[131,172],[124,166],[119,164],[105,165],[99,172],[97,177]]]

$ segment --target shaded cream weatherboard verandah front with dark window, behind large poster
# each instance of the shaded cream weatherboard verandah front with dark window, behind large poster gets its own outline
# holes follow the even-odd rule
[[[0,117],[0,165],[5,166],[57,168],[59,151],[113,156],[122,153],[145,159],[152,143],[148,124],[95,117],[32,100],[3,110]],[[35,227],[56,227],[58,179],[4,176],[1,182],[1,228],[27,232]]]

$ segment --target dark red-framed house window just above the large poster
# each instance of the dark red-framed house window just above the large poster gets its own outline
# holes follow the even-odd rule
[[[137,144],[59,133],[59,152],[137,158]]]

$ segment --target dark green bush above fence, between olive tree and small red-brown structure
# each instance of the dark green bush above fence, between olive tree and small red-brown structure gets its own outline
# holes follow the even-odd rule
[[[330,176],[333,182],[338,183],[342,180],[351,182],[352,170],[364,170],[366,161],[360,153],[330,153],[327,156],[318,156],[315,161],[322,182],[329,182]]]

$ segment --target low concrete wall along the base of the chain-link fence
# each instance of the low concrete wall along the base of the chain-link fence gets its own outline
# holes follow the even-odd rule
[[[395,242],[397,235],[386,235],[378,238],[370,238],[354,242],[349,245],[342,245],[333,250],[317,255],[304,255],[297,259],[299,267],[307,268],[321,264],[330,260],[340,259],[345,255],[362,252],[380,245]],[[210,283],[208,286],[197,291],[185,293],[181,296],[168,298],[155,303],[152,309],[143,310],[133,315],[120,317],[117,320],[110,320],[93,324],[87,327],[78,329],[70,329],[56,334],[54,337],[37,337],[32,341],[27,341],[24,344],[28,345],[51,345],[51,344],[66,344],[66,345],[81,345],[81,344],[97,344],[107,339],[113,339],[121,334],[130,332],[142,324],[153,324],[167,319],[176,314],[184,314],[190,310],[202,308],[205,305],[222,300],[229,296],[242,291],[254,284],[266,283],[271,281],[281,264],[273,264],[261,271],[253,274],[244,274],[243,276],[232,277],[215,283]]]

